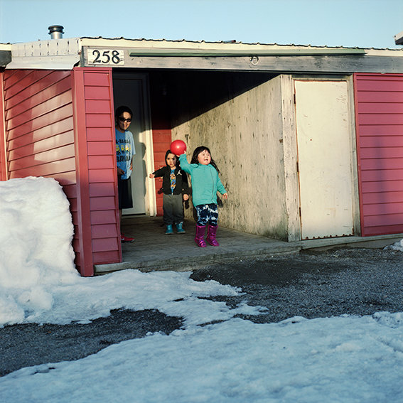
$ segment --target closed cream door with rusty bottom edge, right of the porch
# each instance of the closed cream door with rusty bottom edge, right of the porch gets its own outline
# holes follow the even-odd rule
[[[353,235],[346,81],[295,80],[301,238]]]

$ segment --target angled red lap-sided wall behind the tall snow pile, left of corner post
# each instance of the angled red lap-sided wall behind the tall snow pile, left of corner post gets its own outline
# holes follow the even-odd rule
[[[4,119],[9,179],[55,178],[68,197],[77,237],[75,138],[70,71],[6,70]],[[75,240],[75,264],[81,251]]]

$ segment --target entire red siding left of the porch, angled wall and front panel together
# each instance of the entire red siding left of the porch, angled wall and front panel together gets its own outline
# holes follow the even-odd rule
[[[1,92],[0,179],[44,176],[63,186],[83,276],[121,262],[112,70],[6,70]]]

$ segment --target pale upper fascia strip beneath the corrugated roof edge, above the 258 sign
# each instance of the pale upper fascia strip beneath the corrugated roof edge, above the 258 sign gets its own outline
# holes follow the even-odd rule
[[[279,45],[236,41],[172,41],[130,38],[61,38],[14,43],[12,60],[6,68],[71,69],[80,63],[83,47],[124,48],[130,56],[245,56],[245,55],[382,55],[403,56],[403,49],[364,49],[344,46]]]

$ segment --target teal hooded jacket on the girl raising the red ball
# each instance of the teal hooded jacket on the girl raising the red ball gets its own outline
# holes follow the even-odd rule
[[[188,163],[186,154],[179,156],[179,162],[183,171],[191,176],[193,205],[217,204],[217,191],[222,195],[227,193],[217,170],[210,163],[208,165]]]

